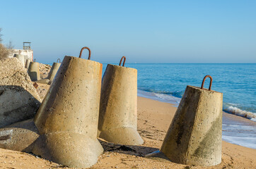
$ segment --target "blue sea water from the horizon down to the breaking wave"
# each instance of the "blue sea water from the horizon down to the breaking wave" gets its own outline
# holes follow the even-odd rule
[[[187,85],[223,93],[223,110],[256,121],[256,64],[127,64],[138,70],[138,89],[160,99],[179,101]],[[206,79],[205,88],[209,87]]]

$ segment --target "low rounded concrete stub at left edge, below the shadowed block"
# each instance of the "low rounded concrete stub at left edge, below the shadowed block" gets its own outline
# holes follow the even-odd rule
[[[25,120],[0,129],[0,148],[31,152],[38,137],[33,119]]]

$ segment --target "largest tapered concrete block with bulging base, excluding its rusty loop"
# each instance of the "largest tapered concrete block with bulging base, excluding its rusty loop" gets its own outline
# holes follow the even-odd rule
[[[101,63],[65,56],[35,117],[34,154],[75,168],[97,162],[101,75]]]

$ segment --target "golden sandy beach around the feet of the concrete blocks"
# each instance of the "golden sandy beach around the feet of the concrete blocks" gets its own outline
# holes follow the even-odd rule
[[[48,85],[40,84],[38,90],[43,97]],[[98,163],[91,168],[256,168],[256,150],[243,146],[222,142],[221,164],[212,167],[181,165],[163,158],[145,158],[146,154],[157,151],[163,142],[165,133],[171,123],[176,107],[138,97],[138,131],[144,139],[141,146],[122,146],[100,139],[104,152],[98,158]],[[236,115],[223,113],[225,118],[243,120],[250,125],[255,123]],[[47,161],[33,154],[0,149],[0,168],[66,168]]]

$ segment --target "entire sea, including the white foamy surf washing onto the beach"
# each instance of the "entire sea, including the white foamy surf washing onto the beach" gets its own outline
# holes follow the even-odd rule
[[[107,64],[103,64],[103,73]],[[187,85],[201,87],[211,75],[211,89],[223,93],[223,111],[248,118],[231,120],[223,116],[222,139],[256,149],[256,63],[252,64],[145,64],[127,63],[138,70],[138,96],[178,106]],[[209,87],[209,78],[204,87]]]

